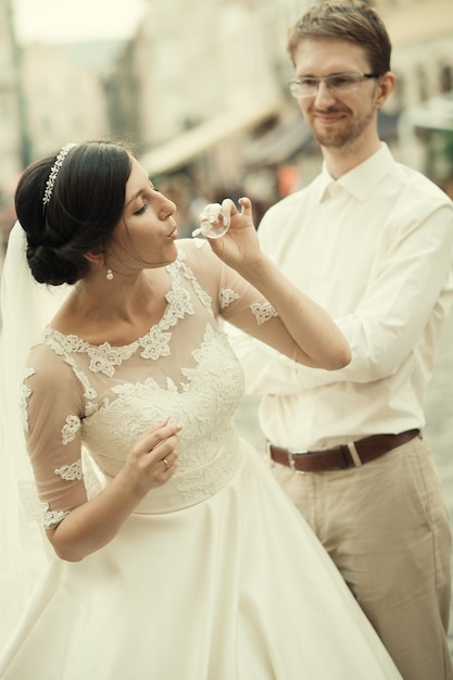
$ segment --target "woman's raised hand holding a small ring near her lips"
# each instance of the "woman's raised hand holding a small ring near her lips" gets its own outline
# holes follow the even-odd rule
[[[210,239],[212,251],[239,273],[255,266],[261,257],[260,241],[253,224],[250,199],[239,199],[240,212],[231,199],[222,202],[223,214],[230,219],[228,231],[221,238]],[[221,217],[222,218],[222,217]]]

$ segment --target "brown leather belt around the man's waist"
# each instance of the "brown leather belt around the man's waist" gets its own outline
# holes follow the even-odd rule
[[[268,444],[270,457],[295,473],[323,473],[358,467],[397,449],[419,435],[419,430],[407,430],[400,435],[373,435],[352,444],[341,444],[320,451],[294,452]]]

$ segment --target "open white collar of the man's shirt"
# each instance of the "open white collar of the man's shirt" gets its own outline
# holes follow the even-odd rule
[[[393,165],[393,156],[386,142],[369,159],[353,167],[339,179],[334,179],[323,163],[319,175],[318,201],[325,201],[338,193],[347,192],[357,201],[365,201]]]

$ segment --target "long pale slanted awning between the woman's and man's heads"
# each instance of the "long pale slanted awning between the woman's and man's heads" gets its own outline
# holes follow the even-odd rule
[[[152,175],[177,169],[231,135],[277,115],[279,108],[279,100],[273,98],[231,109],[143,154],[140,163]]]

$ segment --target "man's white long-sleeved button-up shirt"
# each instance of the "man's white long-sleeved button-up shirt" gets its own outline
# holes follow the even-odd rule
[[[453,301],[453,204],[388,147],[275,204],[263,251],[348,339],[341,370],[307,368],[231,329],[247,392],[274,444],[324,449],[425,425],[425,389]]]

